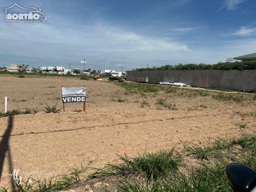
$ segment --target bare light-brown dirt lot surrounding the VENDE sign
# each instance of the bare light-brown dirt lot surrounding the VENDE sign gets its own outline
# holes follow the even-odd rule
[[[0,118],[0,169],[11,174],[49,172],[66,174],[81,162],[102,168],[108,162],[117,163],[118,155],[135,156],[164,148],[182,148],[180,140],[194,144],[213,139],[237,137],[255,131],[255,102],[214,100],[193,89],[179,88],[177,93],[132,94],[115,83],[84,81],[64,77],[0,76],[0,111],[4,111],[4,96],[8,110],[19,108],[44,109],[57,104],[62,107],[61,85],[86,86],[86,112],[82,103],[68,103],[66,112],[17,115]],[[195,89],[194,89],[195,90]],[[211,92],[212,93],[212,92]],[[196,95],[197,94],[197,95]],[[118,97],[127,99],[116,102]],[[147,98],[146,98],[147,97]],[[173,101],[179,110],[156,105],[157,98]],[[142,107],[146,100],[149,105]],[[201,107],[200,107],[201,105]],[[241,129],[236,123],[247,123]],[[9,127],[9,129],[8,129]],[[0,186],[10,181],[1,175]]]

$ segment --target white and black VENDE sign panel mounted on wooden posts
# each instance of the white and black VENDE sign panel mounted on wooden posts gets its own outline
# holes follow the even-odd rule
[[[85,87],[61,87],[62,103],[85,102]]]

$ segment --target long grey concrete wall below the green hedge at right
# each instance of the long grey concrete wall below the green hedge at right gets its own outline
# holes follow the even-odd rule
[[[127,71],[127,79],[160,79],[160,82],[185,83],[195,87],[213,87],[256,91],[256,70],[169,70]]]

